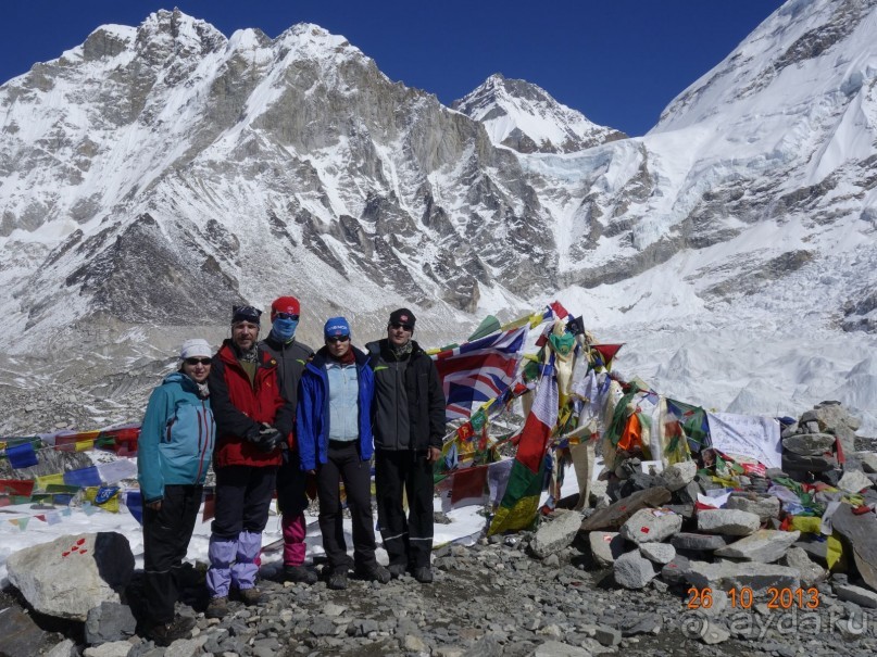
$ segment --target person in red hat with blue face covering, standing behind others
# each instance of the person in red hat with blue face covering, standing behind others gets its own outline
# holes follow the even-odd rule
[[[314,355],[314,350],[296,340],[300,311],[299,300],[295,296],[275,299],[271,304],[271,332],[259,343],[259,346],[277,361],[280,392],[293,409],[298,403],[301,374]],[[308,475],[299,464],[295,433],[288,447],[284,450],[284,462],[277,470],[277,506],[280,509],[280,527],[284,531],[284,579],[313,584],[316,582],[316,573],[304,566]]]

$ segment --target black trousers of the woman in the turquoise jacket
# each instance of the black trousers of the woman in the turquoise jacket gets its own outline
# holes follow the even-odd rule
[[[201,508],[200,485],[165,485],[159,510],[143,505],[143,592],[152,623],[174,619],[179,571]]]

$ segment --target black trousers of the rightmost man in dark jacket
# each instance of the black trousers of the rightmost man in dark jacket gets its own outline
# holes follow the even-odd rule
[[[433,464],[427,452],[375,450],[377,521],[390,566],[429,566],[433,552]],[[402,508],[402,491],[409,513]]]

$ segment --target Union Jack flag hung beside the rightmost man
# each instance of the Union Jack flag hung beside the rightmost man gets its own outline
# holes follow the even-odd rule
[[[433,355],[444,396],[448,421],[500,396],[515,379],[527,327],[487,336]]]

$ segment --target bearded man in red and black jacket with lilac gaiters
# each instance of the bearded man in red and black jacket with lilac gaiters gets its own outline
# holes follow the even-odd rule
[[[258,345],[261,314],[252,306],[235,306],[231,339],[213,356],[209,378],[217,440],[208,618],[225,616],[233,587],[245,604],[262,597],[255,587],[255,560],[281,462],[280,444],[292,431],[295,410],[280,393],[277,361]]]

